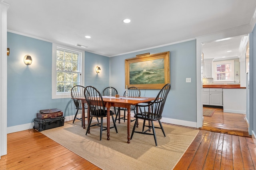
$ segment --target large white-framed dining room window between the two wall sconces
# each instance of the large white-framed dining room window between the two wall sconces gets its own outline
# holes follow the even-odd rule
[[[84,85],[84,52],[52,45],[52,98],[70,98],[73,86]]]

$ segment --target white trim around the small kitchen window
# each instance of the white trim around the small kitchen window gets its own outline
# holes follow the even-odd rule
[[[230,80],[216,80],[216,65],[218,64],[224,64],[224,63],[230,63],[231,66],[231,73],[230,73]],[[213,82],[215,84],[217,83],[234,83],[234,60],[225,60],[225,61],[218,61],[213,62]]]

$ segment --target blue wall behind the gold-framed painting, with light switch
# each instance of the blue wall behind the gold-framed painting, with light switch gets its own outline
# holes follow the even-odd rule
[[[163,117],[196,122],[196,40],[110,58],[110,85],[123,94],[125,90],[125,59],[143,53],[170,51],[171,90]],[[191,78],[191,83],[186,83]],[[155,97],[159,90],[141,90],[141,96]]]

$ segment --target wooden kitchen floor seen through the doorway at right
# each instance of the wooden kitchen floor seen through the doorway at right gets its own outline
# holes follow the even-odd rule
[[[220,107],[204,107],[216,109],[212,117],[204,116],[202,130],[251,137],[245,114],[225,113]]]

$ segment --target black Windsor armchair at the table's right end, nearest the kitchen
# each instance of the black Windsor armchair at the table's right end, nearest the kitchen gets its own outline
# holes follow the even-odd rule
[[[140,109],[140,113],[137,113],[136,115],[134,115],[134,117],[136,118],[136,121],[135,121],[134,127],[132,129],[131,140],[132,140],[134,133],[141,133],[141,134],[145,134],[145,135],[154,135],[155,143],[157,146],[155,128],[162,129],[164,137],[166,137],[166,135],[164,133],[164,128],[163,128],[160,120],[162,119],[162,112],[164,110],[164,104],[165,104],[167,95],[170,91],[170,88],[171,88],[170,84],[165,84],[153,102],[151,102],[149,104],[145,104],[145,105],[140,105],[140,104],[137,105]],[[135,131],[138,119],[144,120],[142,131]],[[145,125],[146,120],[149,121],[149,125]],[[154,121],[158,121],[160,127],[155,127]],[[144,127],[148,127],[148,129],[146,131],[144,131]],[[153,133],[148,133],[148,131],[150,131],[151,129],[152,129]]]

